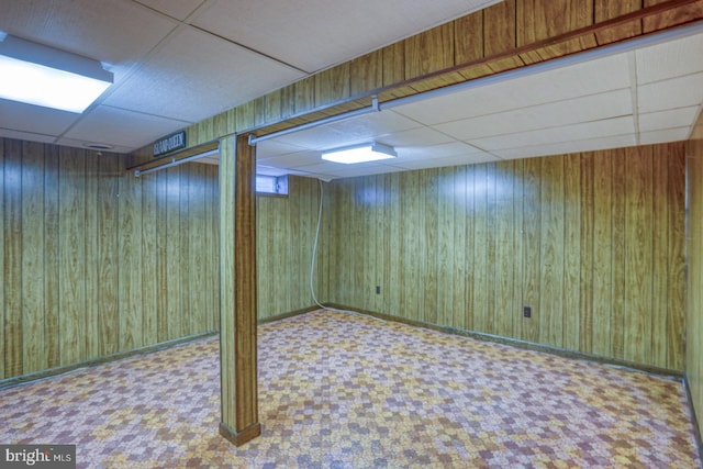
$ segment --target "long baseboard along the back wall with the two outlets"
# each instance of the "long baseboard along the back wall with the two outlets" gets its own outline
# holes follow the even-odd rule
[[[544,344],[538,344],[538,343],[528,342],[528,340],[521,340],[521,339],[512,338],[512,337],[504,337],[504,336],[500,336],[500,335],[486,334],[486,333],[480,333],[480,332],[475,332],[475,331],[466,331],[466,330],[460,330],[460,328],[449,327],[449,326],[440,326],[440,325],[437,325],[437,324],[425,323],[425,322],[422,322],[422,321],[406,320],[404,317],[391,316],[391,315],[388,315],[388,314],[382,314],[382,313],[377,313],[377,312],[373,312],[373,311],[361,310],[361,309],[358,309],[358,308],[349,308],[349,306],[345,306],[345,305],[336,304],[336,303],[324,303],[324,304],[326,306],[328,306],[328,308],[334,308],[334,309],[338,309],[338,310],[349,310],[349,311],[354,311],[354,312],[357,312],[357,313],[360,313],[360,314],[366,314],[366,315],[371,316],[371,317],[378,317],[378,319],[384,320],[384,321],[394,321],[394,322],[398,322],[398,323],[408,324],[408,325],[415,326],[415,327],[424,327],[424,328],[428,328],[428,330],[432,330],[432,331],[438,331],[438,332],[443,332],[443,333],[447,333],[447,334],[454,334],[454,335],[460,335],[460,336],[465,336],[465,337],[471,337],[471,338],[476,338],[476,339],[479,339],[479,340],[486,340],[486,342],[491,342],[491,343],[495,343],[495,344],[511,345],[511,346],[514,346],[514,347],[524,348],[524,349],[528,349],[528,350],[543,351],[543,353],[546,353],[546,354],[558,355],[558,356],[565,357],[565,358],[572,358],[572,359],[578,359],[578,360],[596,362],[599,365],[616,367],[616,368],[623,368],[623,369],[626,369],[626,370],[629,370],[629,371],[645,372],[645,373],[648,373],[648,375],[656,375],[656,376],[659,376],[659,377],[672,378],[672,379],[676,379],[678,381],[682,381],[683,380],[683,372],[682,371],[678,371],[678,370],[670,370],[670,369],[666,369],[666,368],[651,367],[651,366],[648,366],[648,365],[643,365],[643,364],[637,364],[637,362],[632,362],[632,361],[626,361],[626,360],[620,360],[620,359],[611,358],[611,357],[603,357],[603,356],[600,356],[600,355],[584,354],[582,351],[569,350],[567,348],[560,348],[560,347],[553,347],[550,345],[544,345]]]

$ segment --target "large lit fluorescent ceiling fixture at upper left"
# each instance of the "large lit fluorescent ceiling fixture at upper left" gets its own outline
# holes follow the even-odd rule
[[[0,35],[0,98],[80,113],[112,81],[98,60]]]

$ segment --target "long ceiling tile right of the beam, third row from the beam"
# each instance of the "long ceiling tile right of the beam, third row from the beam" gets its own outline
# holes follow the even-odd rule
[[[500,153],[496,152],[500,149],[536,145],[548,146],[554,143],[584,141],[588,138],[598,139],[612,135],[634,134],[634,121],[632,116],[626,116],[488,138],[476,138],[468,143],[500,156]]]

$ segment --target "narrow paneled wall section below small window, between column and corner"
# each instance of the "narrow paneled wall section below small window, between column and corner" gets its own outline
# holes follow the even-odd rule
[[[289,197],[257,197],[259,320],[314,304],[310,265],[320,204],[319,182],[289,176],[288,185]],[[315,293],[325,298],[326,282],[322,279],[328,275],[328,264],[324,256],[317,258],[315,267]]]

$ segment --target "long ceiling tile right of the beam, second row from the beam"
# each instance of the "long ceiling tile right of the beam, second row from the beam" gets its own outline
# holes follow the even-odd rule
[[[629,89],[624,89],[449,122],[435,129],[468,141],[628,115],[632,112],[632,93]]]

